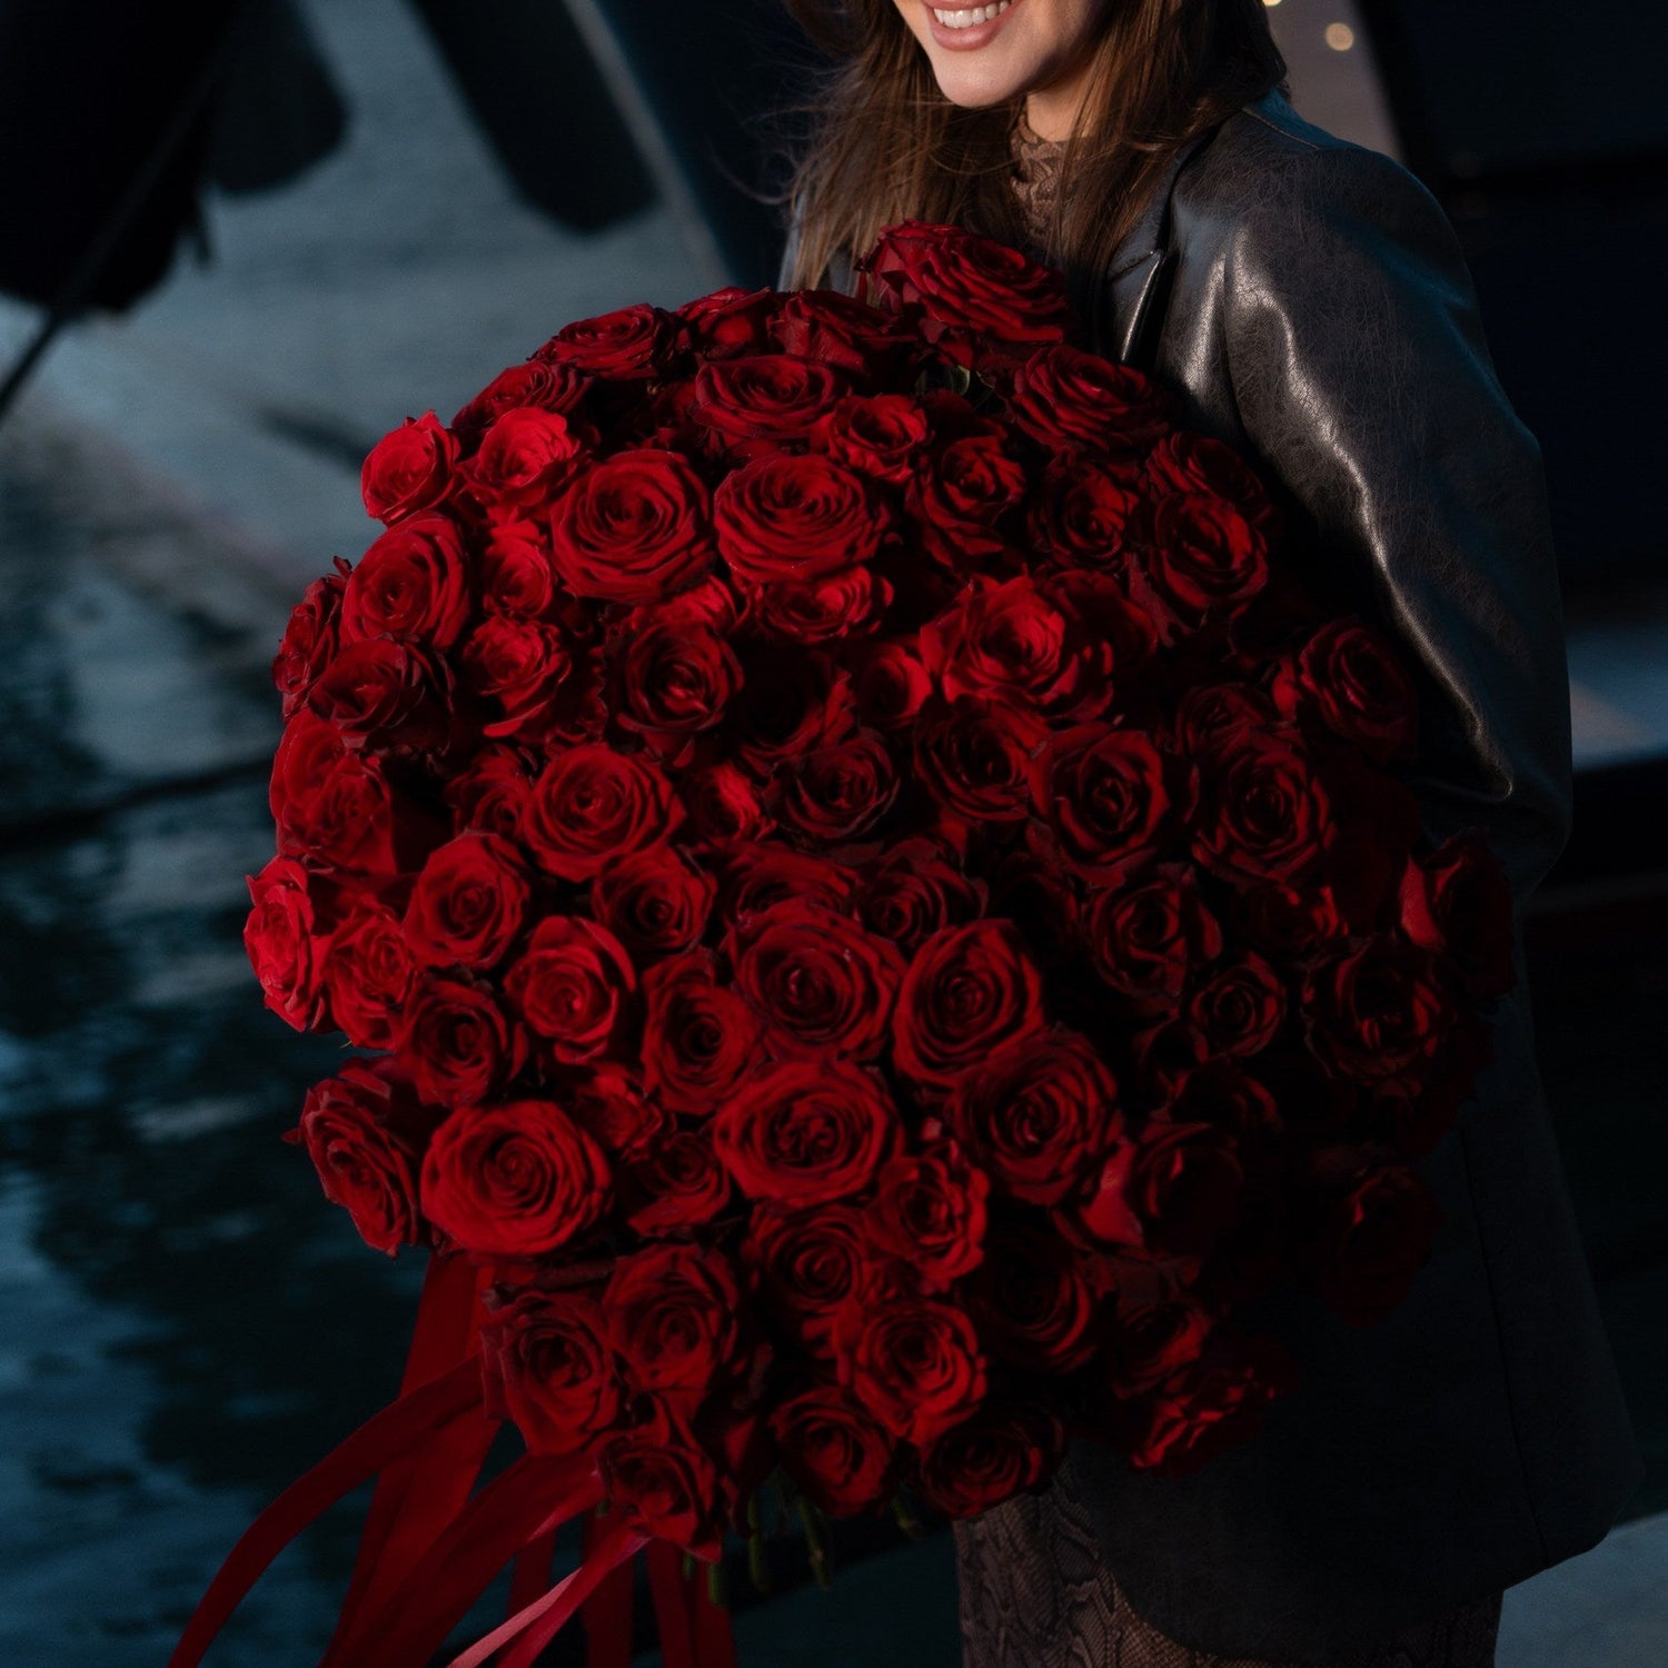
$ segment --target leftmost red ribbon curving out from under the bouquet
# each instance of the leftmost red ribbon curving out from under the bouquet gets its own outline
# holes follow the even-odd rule
[[[197,1668],[267,1565],[344,1495],[369,1483],[434,1433],[447,1431],[462,1419],[479,1421],[479,1414],[480,1369],[472,1359],[372,1414],[244,1531],[208,1583],[168,1658],[168,1668]]]

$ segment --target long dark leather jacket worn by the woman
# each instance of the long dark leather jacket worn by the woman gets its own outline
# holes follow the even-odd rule
[[[1271,92],[1178,155],[1104,295],[1103,345],[1249,455],[1414,651],[1426,831],[1485,826],[1521,911],[1570,827],[1558,570],[1441,205]],[[1119,1585],[1183,1645],[1326,1661],[1585,1551],[1638,1485],[1523,971],[1423,1164],[1446,1226],[1408,1303],[1351,1329],[1273,1299],[1304,1388],[1194,1478],[1074,1451]]]

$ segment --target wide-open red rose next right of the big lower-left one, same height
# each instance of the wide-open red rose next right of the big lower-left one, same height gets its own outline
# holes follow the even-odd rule
[[[899,1133],[881,1081],[832,1059],[757,1071],[712,1121],[719,1158],[742,1193],[796,1208],[861,1193]]]

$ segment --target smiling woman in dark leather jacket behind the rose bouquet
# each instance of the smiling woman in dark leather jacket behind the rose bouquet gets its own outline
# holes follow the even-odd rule
[[[851,287],[909,217],[1029,245],[1098,345],[1261,465],[1313,560],[1419,669],[1433,839],[1483,824],[1521,906],[1570,819],[1540,449],[1495,377],[1436,200],[1303,122],[1264,0],[799,5],[842,58],[784,285]],[[1501,1590],[1593,1546],[1640,1478],[1535,1064],[1528,989],[1424,1163],[1446,1226],[1408,1303],[1261,1323],[1301,1393],[1186,1480],[1074,1449],[957,1526],[981,1665],[1481,1668]]]

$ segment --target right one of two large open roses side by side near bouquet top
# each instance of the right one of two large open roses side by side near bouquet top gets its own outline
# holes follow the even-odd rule
[[[729,570],[754,585],[867,562],[889,522],[874,484],[821,454],[744,464],[714,494],[712,519]]]

